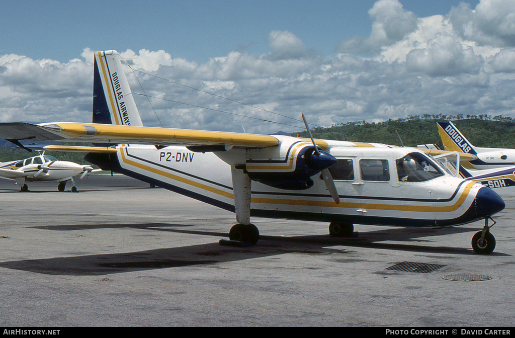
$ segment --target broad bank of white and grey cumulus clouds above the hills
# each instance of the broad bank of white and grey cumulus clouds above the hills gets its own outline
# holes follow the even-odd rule
[[[118,52],[134,70],[127,67],[128,78],[147,126],[268,133],[302,130],[301,113],[320,126],[438,113],[512,116],[511,2],[416,18],[399,1],[380,0],[369,11],[370,36],[340,41],[329,56],[281,30],[269,32],[268,53],[234,50],[203,63],[165,50]],[[85,48],[67,63],[0,55],[0,120],[91,121],[93,52]],[[137,94],[140,83],[148,98]]]

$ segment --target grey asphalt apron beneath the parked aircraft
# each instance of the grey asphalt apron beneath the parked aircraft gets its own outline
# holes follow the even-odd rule
[[[234,214],[125,176],[28,185],[0,180],[0,327],[515,324],[513,198],[481,256],[483,222],[333,239],[326,223],[253,218],[259,243],[234,247],[219,244]],[[402,262],[437,268],[390,269]]]

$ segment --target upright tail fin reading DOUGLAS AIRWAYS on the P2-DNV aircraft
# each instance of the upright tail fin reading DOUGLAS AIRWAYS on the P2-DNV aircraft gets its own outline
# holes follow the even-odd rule
[[[121,57],[116,50],[95,52],[93,123],[143,126]]]

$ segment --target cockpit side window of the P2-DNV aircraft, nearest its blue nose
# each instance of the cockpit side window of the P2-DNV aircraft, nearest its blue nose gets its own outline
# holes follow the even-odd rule
[[[401,182],[422,182],[444,175],[435,162],[421,153],[409,153],[398,159],[397,173]]]

